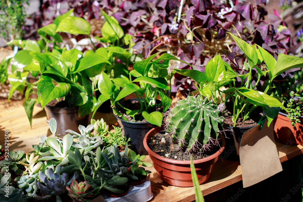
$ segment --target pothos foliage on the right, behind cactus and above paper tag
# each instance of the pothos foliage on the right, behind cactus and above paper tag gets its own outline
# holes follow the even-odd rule
[[[228,100],[231,101],[233,105],[232,120],[234,121],[234,127],[238,118],[241,117],[243,121],[245,121],[250,117],[251,112],[259,106],[263,108],[269,126],[278,114],[280,108],[287,111],[278,99],[267,94],[272,81],[276,76],[286,70],[303,66],[303,59],[280,53],[276,61],[275,58],[261,46],[249,45],[235,35],[229,34],[247,58],[248,73],[237,75],[236,72],[222,60],[220,55],[212,58],[207,63],[204,73],[197,70],[175,70],[179,74],[192,78],[196,82],[195,85],[199,93],[209,97],[209,99],[216,99],[216,101],[224,103]],[[260,65],[262,61],[265,63],[264,69],[264,65]],[[251,73],[253,70],[257,72],[256,82],[252,82]],[[268,81],[266,82],[268,85],[264,91],[255,90],[259,87],[260,78],[266,76],[266,74],[268,74]],[[234,79],[236,77],[241,80],[240,86],[236,86]],[[220,88],[223,86],[228,86],[228,89],[225,91],[221,90]],[[216,98],[216,93],[218,93],[220,99]],[[223,98],[222,94],[226,94],[227,96]]]

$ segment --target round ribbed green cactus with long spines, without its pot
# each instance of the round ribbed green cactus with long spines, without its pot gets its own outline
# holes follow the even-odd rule
[[[178,149],[191,153],[210,150],[218,144],[218,135],[223,131],[221,105],[208,98],[203,100],[200,95],[178,101],[166,117],[166,134],[178,143]]]

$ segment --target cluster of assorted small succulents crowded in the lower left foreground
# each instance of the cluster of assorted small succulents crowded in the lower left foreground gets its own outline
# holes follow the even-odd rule
[[[95,134],[105,136],[108,133],[108,125],[104,120],[92,122],[98,125],[95,127]],[[99,127],[98,123],[102,126]],[[55,136],[56,121],[50,120],[48,124]],[[68,130],[70,134],[62,139],[42,136],[41,143],[33,145],[34,150],[26,154],[23,151],[10,152],[9,158],[0,162],[1,171],[6,173],[8,167],[9,177],[14,175],[13,179],[18,186],[10,186],[9,194],[15,193],[16,196],[8,201],[53,198],[60,202],[65,197],[70,197],[73,201],[81,202],[103,194],[104,190],[122,193],[118,186],[126,184],[128,179],[138,180],[137,173],[150,173],[138,167],[152,166],[142,161],[145,156],[134,154],[125,141],[125,151],[120,152],[115,138],[108,141],[111,145],[103,145],[101,136],[91,133],[93,127],[92,124],[88,127],[80,125],[80,134]],[[112,134],[119,139],[122,135],[120,128],[115,127],[114,130],[117,132]],[[118,142],[121,142],[121,137]],[[132,167],[134,165],[136,167]],[[127,172],[138,169],[137,173]],[[4,191],[0,187],[0,198],[4,197]]]

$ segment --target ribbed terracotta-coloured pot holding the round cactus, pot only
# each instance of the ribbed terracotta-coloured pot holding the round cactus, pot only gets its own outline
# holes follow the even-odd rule
[[[174,159],[168,159],[162,157],[155,152],[151,151],[148,147],[148,142],[150,138],[157,134],[159,131],[163,130],[160,127],[155,127],[151,129],[144,137],[144,147],[148,152],[149,157],[152,160],[152,164],[157,171],[158,176],[164,182],[177,186],[177,187],[192,187],[192,179],[190,172],[190,161],[179,161]],[[202,184],[211,175],[211,171],[215,167],[215,163],[218,160],[220,154],[225,148],[225,140],[222,138],[222,145],[219,151],[215,154],[202,158],[199,160],[194,160],[199,184]]]

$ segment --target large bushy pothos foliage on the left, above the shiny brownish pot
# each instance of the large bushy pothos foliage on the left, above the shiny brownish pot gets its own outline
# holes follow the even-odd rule
[[[11,58],[14,73],[8,75],[8,81],[12,84],[8,100],[15,90],[26,87],[24,106],[30,124],[35,103],[41,103],[44,108],[53,99],[60,101],[59,98],[62,98],[67,107],[79,106],[78,116],[92,112],[97,103],[93,93],[94,81],[98,81],[95,77],[103,71],[103,64],[111,65],[103,57],[106,50],[86,51],[85,54],[75,48],[67,50],[62,44],[60,32],[90,38],[90,25],[83,18],[75,17],[73,10],[70,10],[38,30],[41,40],[10,42],[23,49]],[[29,73],[40,75],[38,81],[28,82]],[[30,94],[37,93],[33,88],[37,88],[38,98],[29,98]]]

